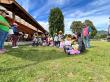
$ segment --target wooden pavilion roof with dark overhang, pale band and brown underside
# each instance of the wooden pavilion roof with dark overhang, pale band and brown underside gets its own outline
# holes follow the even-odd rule
[[[6,19],[10,24],[15,21],[19,26],[18,30],[33,35],[35,32],[44,34],[47,31],[16,1],[14,0],[0,0],[0,5],[6,8],[9,15]]]

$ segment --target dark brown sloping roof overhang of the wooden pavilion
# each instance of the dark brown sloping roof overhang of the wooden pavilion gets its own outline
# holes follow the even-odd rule
[[[4,1],[4,0],[2,0]],[[21,17],[29,24],[33,25],[43,33],[47,32],[23,7],[21,7],[16,1],[11,4],[0,3],[0,5],[4,6],[8,11],[15,13],[15,15]]]

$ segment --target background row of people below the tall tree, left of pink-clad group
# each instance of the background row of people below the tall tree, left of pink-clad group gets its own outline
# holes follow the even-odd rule
[[[58,36],[57,33],[53,37],[51,37],[49,34],[45,34],[42,36],[38,36],[38,33],[35,33],[33,35],[33,43],[32,46],[60,46],[61,40],[64,38],[64,35],[62,34],[62,31],[59,32]]]

